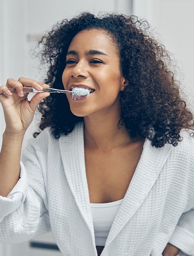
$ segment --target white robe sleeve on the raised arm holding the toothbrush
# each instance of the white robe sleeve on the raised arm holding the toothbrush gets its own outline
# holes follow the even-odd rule
[[[7,198],[0,196],[0,243],[24,242],[50,231],[44,175],[32,145],[24,159],[18,183]]]

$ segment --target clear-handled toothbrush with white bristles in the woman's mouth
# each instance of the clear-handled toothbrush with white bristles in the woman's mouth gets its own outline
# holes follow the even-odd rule
[[[16,88],[10,87],[9,90],[11,92],[16,92]],[[81,96],[86,96],[89,95],[89,89],[87,88],[81,88],[81,87],[72,87],[72,91],[65,91],[65,90],[59,90],[59,89],[54,89],[54,88],[48,88],[48,89],[43,89],[41,91],[37,91],[36,89],[32,87],[23,87],[24,93],[43,93],[43,92],[48,92],[48,93],[69,93],[72,94],[72,96],[75,97],[81,97]]]

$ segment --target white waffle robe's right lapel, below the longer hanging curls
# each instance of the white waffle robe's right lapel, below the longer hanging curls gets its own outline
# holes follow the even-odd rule
[[[106,246],[119,234],[125,224],[137,212],[143,200],[145,200],[168,158],[171,147],[170,144],[166,144],[162,148],[156,148],[151,146],[150,141],[145,141],[141,159],[121,207],[117,212],[106,241]]]

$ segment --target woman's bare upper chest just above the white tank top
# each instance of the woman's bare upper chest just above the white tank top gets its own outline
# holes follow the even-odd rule
[[[139,163],[143,146],[98,151],[85,149],[85,168],[91,203],[124,198]]]

